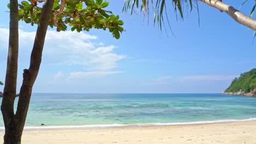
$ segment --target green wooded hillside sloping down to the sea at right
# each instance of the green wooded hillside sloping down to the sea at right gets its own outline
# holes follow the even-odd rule
[[[225,92],[252,92],[254,89],[256,89],[256,69],[252,69],[251,71],[248,71],[246,73],[243,73],[240,75],[240,77],[237,79],[235,78],[229,88],[225,90]]]

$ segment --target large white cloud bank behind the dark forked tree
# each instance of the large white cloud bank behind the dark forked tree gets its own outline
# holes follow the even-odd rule
[[[9,29],[0,28],[0,51],[7,51]],[[27,32],[19,29],[20,56],[19,61],[30,61],[30,53],[34,43],[36,32]],[[78,71],[70,74],[69,79],[75,79],[77,75],[86,77],[86,75],[108,75],[120,73],[113,71],[118,67],[118,61],[126,56],[114,53],[117,46],[104,43],[95,43],[95,35],[89,35],[84,32],[56,32],[47,31],[43,63],[55,65],[78,65],[85,69],[85,72]],[[1,59],[0,59],[1,60]],[[62,76],[61,71],[54,79]]]

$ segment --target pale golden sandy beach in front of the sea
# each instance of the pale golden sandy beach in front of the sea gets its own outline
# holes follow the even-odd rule
[[[0,132],[0,143],[3,139]],[[256,143],[256,121],[160,127],[25,130],[22,143]]]

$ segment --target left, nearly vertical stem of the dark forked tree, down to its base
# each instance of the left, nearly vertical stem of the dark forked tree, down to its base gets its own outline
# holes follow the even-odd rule
[[[4,120],[5,135],[4,144],[20,143],[16,139],[14,100],[16,97],[16,82],[18,70],[19,53],[19,12],[18,0],[10,0],[10,24],[9,24],[9,50],[7,59],[7,70],[5,75],[4,93],[1,111]]]

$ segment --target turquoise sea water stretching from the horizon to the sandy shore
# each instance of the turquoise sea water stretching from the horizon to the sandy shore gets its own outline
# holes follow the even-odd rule
[[[2,99],[0,99],[1,101]],[[0,127],[3,127],[2,116]],[[177,124],[256,118],[256,98],[220,94],[32,94],[26,127]]]

